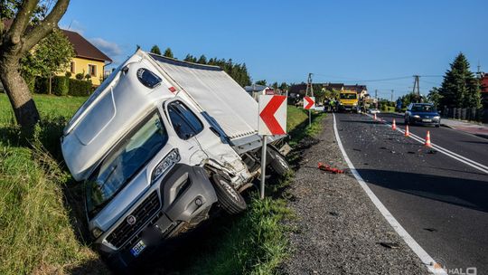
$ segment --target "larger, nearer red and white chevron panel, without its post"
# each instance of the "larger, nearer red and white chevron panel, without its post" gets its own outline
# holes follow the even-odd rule
[[[286,134],[286,96],[259,96],[258,134]]]

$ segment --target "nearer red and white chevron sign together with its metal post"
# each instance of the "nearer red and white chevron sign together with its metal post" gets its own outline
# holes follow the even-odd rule
[[[259,96],[258,135],[262,136],[261,183],[259,197],[264,199],[267,136],[286,135],[286,96]]]

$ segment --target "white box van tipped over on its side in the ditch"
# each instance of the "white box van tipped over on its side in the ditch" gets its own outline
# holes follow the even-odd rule
[[[71,175],[86,185],[89,231],[126,267],[208,217],[246,208],[260,172],[258,102],[219,67],[137,51],[95,90],[61,137]],[[286,173],[268,138],[268,160]]]

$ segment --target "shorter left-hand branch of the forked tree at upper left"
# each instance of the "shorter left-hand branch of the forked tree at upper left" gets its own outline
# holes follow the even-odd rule
[[[23,32],[31,21],[33,10],[37,4],[39,4],[39,0],[23,1],[21,8],[15,15],[14,22],[6,33],[6,38],[10,40],[10,43],[15,45],[21,42]]]

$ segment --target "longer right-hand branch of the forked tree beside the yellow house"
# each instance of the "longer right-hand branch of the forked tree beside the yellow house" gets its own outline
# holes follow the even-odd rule
[[[51,13],[42,22],[33,27],[31,31],[25,34],[23,37],[22,53],[30,51],[36,43],[39,43],[42,38],[46,37],[58,26],[58,22],[62,15],[66,13],[69,4],[70,0],[58,0],[52,8]]]

